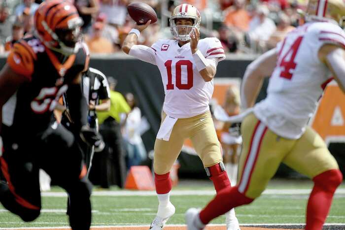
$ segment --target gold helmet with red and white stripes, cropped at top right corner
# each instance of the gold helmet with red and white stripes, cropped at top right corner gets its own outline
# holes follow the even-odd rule
[[[343,28],[345,22],[345,0],[309,0],[307,20],[333,21]]]

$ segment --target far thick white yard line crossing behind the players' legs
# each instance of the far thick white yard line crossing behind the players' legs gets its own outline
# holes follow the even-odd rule
[[[263,195],[309,195],[311,189],[267,189]],[[337,189],[337,195],[345,195],[345,189]],[[42,197],[67,197],[65,192],[43,192]],[[172,196],[213,196],[213,190],[177,190],[171,192]],[[156,196],[155,191],[94,191],[92,196],[95,197],[127,197],[127,196]]]

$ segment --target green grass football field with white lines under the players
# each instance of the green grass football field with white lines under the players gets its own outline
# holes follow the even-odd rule
[[[272,181],[264,195],[250,205],[236,209],[240,224],[303,224],[311,187],[309,181]],[[213,193],[209,181],[180,181],[172,191],[171,201],[176,213],[168,224],[184,224],[184,212],[189,207],[203,207]],[[51,192],[43,193],[41,215],[31,223],[22,222],[0,205],[0,229],[67,227],[66,204],[66,194],[54,187]],[[148,226],[156,214],[157,205],[154,191],[101,190],[95,187],[92,226]],[[224,221],[225,217],[221,216],[212,224],[223,224]],[[339,229],[345,229],[345,184],[337,190],[327,223],[338,224]]]

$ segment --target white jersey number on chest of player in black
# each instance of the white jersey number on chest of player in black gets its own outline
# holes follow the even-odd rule
[[[38,96],[31,102],[31,109],[38,114],[53,111],[59,98],[67,91],[68,86],[42,88]]]

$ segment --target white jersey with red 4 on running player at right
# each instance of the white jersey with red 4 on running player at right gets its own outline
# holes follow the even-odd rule
[[[336,24],[311,22],[288,33],[276,47],[276,68],[267,98],[254,107],[255,115],[276,134],[299,138],[312,117],[332,73],[318,58],[325,44],[345,49],[345,32]]]

